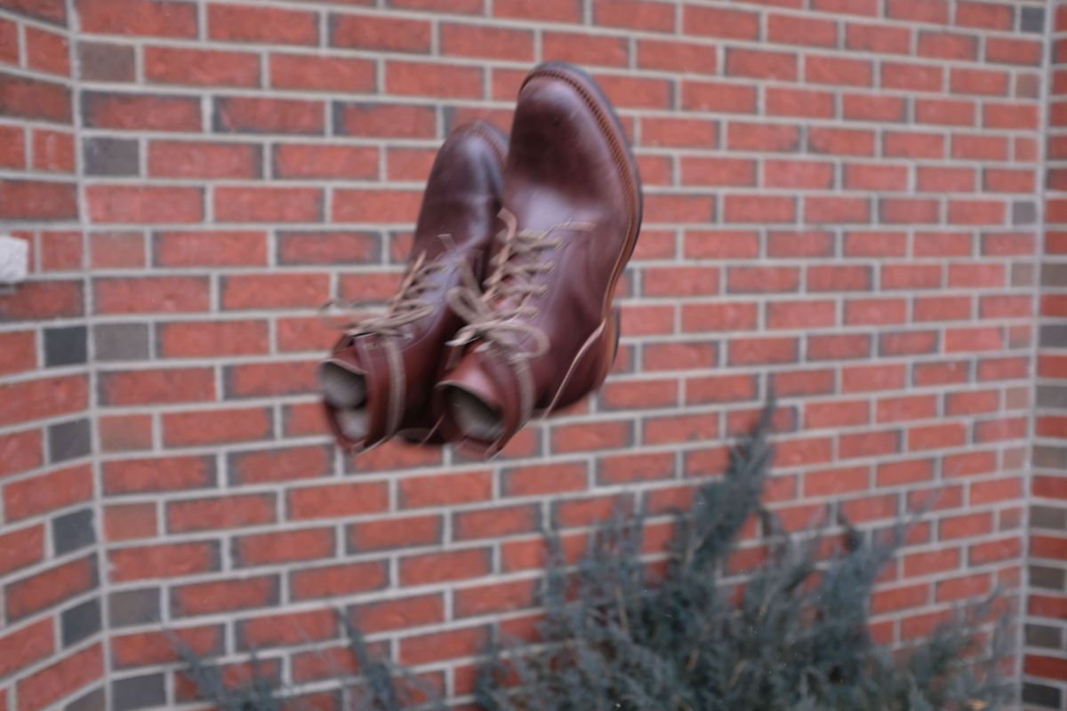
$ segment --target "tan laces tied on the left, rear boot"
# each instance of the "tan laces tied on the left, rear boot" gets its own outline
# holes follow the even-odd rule
[[[327,316],[341,319],[339,327],[348,336],[404,336],[405,326],[433,312],[435,305],[427,297],[427,292],[434,288],[429,277],[443,268],[441,261],[428,261],[426,253],[420,253],[408,269],[383,313],[357,319],[355,317],[363,316],[365,311],[361,312],[355,304],[340,298],[327,302],[322,309]]]

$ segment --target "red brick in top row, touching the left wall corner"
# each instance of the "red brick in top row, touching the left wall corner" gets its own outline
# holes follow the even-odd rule
[[[196,37],[196,5],[171,0],[78,0],[81,31],[152,37]]]

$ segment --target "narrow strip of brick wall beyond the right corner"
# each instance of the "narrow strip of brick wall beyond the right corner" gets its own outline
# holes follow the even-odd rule
[[[1067,6],[1050,30],[1046,196],[1023,697],[1067,708]]]

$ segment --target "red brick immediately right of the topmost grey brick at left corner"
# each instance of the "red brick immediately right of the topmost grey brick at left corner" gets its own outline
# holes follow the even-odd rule
[[[250,52],[146,47],[144,76],[161,84],[258,86],[259,58]]]

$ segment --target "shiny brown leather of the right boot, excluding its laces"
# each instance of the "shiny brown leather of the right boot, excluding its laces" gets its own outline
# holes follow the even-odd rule
[[[532,358],[515,358],[507,349],[475,342],[445,377],[495,406],[505,421],[504,440],[532,413],[523,411],[517,370],[528,368],[532,410],[559,408],[600,386],[615,353],[611,314],[615,284],[628,260],[640,225],[640,188],[622,128],[592,80],[559,64],[542,65],[520,92],[504,179],[504,207],[523,230],[552,230],[559,245],[526,256],[552,264],[531,277],[538,295],[504,298],[493,305],[507,311],[532,309],[521,317],[540,329],[551,346]],[[580,229],[567,223],[582,223]],[[501,249],[494,241],[493,253]],[[517,335],[525,354],[537,344]],[[570,378],[567,379],[568,374]],[[487,385],[487,376],[493,386]],[[442,388],[439,387],[439,391]],[[448,417],[446,433],[467,449],[492,454],[504,441],[464,436]]]

